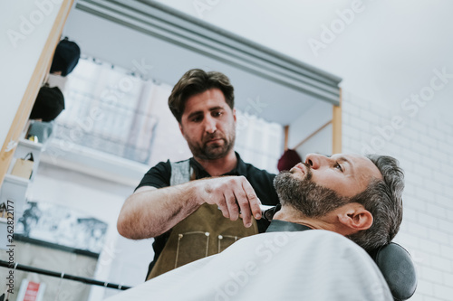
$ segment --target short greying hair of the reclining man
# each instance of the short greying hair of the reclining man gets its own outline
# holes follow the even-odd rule
[[[374,179],[368,188],[352,197],[371,212],[373,222],[368,230],[349,235],[367,251],[390,243],[400,230],[404,173],[397,159],[387,155],[366,155],[381,171],[383,179]]]

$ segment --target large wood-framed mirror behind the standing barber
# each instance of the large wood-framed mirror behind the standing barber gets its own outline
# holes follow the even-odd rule
[[[108,224],[96,268],[82,271],[84,275],[130,286],[144,280],[153,256],[151,242],[123,239],[116,231],[116,220],[149,166],[189,156],[166,108],[169,90],[189,69],[221,71],[230,78],[243,118],[238,122],[236,149],[245,161],[275,172],[284,146],[296,148],[301,155],[313,149],[332,153],[333,106],[340,104],[341,79],[331,74],[151,1],[78,1],[64,36],[82,49],[80,65],[63,91],[67,116],[63,122],[57,120],[66,132],[47,145],[27,200],[90,212]],[[115,118],[99,126],[101,113],[107,114],[112,104],[118,107]],[[141,119],[144,115],[149,118]],[[103,132],[107,127],[113,130]],[[126,134],[121,132],[124,128]],[[96,134],[97,140],[87,133]],[[119,150],[122,138],[129,145],[152,141],[152,146],[145,143],[134,150]],[[142,158],[136,150],[147,147],[151,151]],[[265,151],[274,157],[269,160]],[[27,256],[32,254],[24,254],[23,260]],[[51,261],[47,268],[59,270]],[[114,293],[92,287],[90,294]]]

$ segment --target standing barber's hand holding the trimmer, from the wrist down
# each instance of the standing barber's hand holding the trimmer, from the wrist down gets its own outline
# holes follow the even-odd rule
[[[252,225],[252,214],[256,220],[261,219],[260,202],[245,176],[221,176],[198,181],[200,203],[217,204],[231,221],[236,221],[240,212],[247,228]]]

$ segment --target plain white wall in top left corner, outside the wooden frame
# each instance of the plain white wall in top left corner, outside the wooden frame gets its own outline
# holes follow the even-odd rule
[[[45,4],[44,4],[45,3]],[[2,1],[0,5],[0,143],[3,146],[62,1]],[[14,128],[22,131],[23,128]]]

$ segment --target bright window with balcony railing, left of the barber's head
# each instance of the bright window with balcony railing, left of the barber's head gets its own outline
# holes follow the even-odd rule
[[[146,164],[158,124],[147,109],[152,85],[118,67],[80,60],[65,84],[54,137]]]

